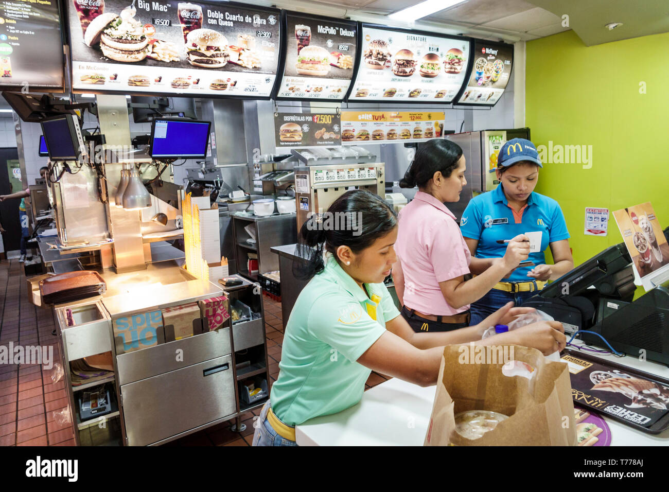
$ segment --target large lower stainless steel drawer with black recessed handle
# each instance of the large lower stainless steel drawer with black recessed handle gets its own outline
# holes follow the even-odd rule
[[[120,387],[130,446],[146,446],[235,414],[232,356]]]

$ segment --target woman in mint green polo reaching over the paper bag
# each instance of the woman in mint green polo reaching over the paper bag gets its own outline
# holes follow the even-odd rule
[[[295,426],[360,401],[372,370],[436,384],[444,345],[515,343],[548,354],[565,347],[561,323],[535,323],[481,340],[496,323],[531,311],[504,308],[478,326],[415,333],[383,280],[397,260],[397,217],[381,197],[348,191],[300,230],[298,276],[311,278],[290,313],[279,378],[262,408],[255,446],[294,446]],[[271,402],[271,403],[270,403]]]

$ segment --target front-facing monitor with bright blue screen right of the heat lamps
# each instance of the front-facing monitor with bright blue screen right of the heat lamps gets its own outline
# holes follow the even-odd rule
[[[151,125],[154,159],[203,159],[207,155],[209,121],[158,118]]]

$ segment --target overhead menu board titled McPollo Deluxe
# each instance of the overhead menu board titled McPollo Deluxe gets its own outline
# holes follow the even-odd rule
[[[341,101],[357,52],[357,22],[287,12],[284,73],[277,99]]]

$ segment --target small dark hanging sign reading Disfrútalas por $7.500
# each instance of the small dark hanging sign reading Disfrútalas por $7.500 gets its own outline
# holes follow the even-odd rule
[[[276,147],[332,147],[341,145],[339,114],[278,113],[274,115]]]

